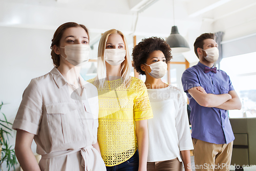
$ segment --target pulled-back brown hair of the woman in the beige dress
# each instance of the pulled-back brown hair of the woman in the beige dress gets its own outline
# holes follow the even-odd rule
[[[52,56],[52,60],[53,60],[53,65],[55,67],[59,67],[60,57],[59,57],[59,55],[55,54],[55,52],[53,50],[53,46],[54,45],[59,46],[60,39],[61,39],[63,33],[65,32],[65,30],[67,30],[68,28],[72,28],[72,27],[81,27],[81,28],[83,28],[86,31],[87,35],[88,35],[88,40],[90,40],[88,29],[85,26],[78,25],[78,23],[76,23],[76,22],[66,22],[66,23],[63,23],[62,25],[60,25],[58,27],[58,29],[55,31],[54,35],[53,35],[52,44],[51,44],[51,50],[52,50],[51,51],[51,56]]]

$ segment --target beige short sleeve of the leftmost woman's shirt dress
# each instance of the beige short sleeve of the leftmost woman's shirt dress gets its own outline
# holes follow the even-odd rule
[[[42,95],[37,81],[33,79],[23,93],[12,129],[20,129],[37,135],[41,117]]]

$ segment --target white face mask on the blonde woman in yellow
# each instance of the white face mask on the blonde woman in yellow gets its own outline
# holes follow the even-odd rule
[[[119,65],[124,61],[125,55],[125,50],[108,48],[105,50],[105,61],[110,65]]]

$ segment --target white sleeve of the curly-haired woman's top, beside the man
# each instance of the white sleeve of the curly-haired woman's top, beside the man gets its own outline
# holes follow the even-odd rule
[[[179,139],[179,149],[180,151],[193,150],[194,147],[189,129],[185,97],[181,91],[178,94],[177,101],[179,107],[176,113],[175,122]]]

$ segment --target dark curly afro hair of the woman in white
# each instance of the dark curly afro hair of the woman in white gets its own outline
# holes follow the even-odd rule
[[[145,72],[141,70],[140,64],[146,63],[148,56],[154,51],[161,51],[166,59],[166,63],[173,58],[170,46],[166,41],[159,37],[144,38],[133,48],[133,67],[136,71],[145,75]]]

